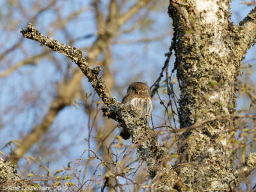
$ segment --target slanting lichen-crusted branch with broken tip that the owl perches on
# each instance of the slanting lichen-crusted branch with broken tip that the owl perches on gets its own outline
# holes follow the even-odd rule
[[[99,76],[100,68],[91,68],[83,57],[84,53],[81,49],[60,44],[57,40],[42,35],[32,24],[28,24],[27,28],[20,32],[25,38],[36,40],[52,50],[64,54],[78,65],[104,102],[105,106],[102,108],[104,115],[116,120],[120,126],[125,126],[131,131],[132,141],[138,143],[140,159],[148,164],[150,178],[154,180],[154,183],[157,182],[157,189],[171,189],[175,180],[179,179],[177,179],[177,173],[172,166],[162,162],[165,150],[159,145],[157,136],[150,134],[150,127],[147,127],[144,121],[138,118],[137,112],[132,106],[125,106],[109,96],[104,80]],[[159,165],[163,166],[161,172],[158,171]]]

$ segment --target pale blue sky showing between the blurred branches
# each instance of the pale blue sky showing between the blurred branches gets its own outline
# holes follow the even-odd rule
[[[36,14],[38,10],[31,8],[31,4],[35,1],[24,0],[20,1],[27,8],[28,17]],[[44,4],[46,1],[42,1]],[[65,3],[63,3],[65,2]],[[242,1],[232,1],[231,3],[231,20],[234,24],[238,24],[248,12],[252,9],[252,6],[247,6],[246,4],[241,4]],[[42,13],[38,19],[35,21],[35,26],[44,35],[50,34],[52,38],[56,38],[64,44],[68,44],[67,33],[72,34],[74,38],[79,38],[84,35],[95,34],[97,31],[95,26],[95,19],[93,11],[89,6],[90,1],[59,1],[58,5],[61,7],[61,19],[65,19],[70,13],[79,10],[79,8],[84,8],[84,12],[75,17],[71,22],[65,26],[65,30],[59,29],[54,31],[54,22],[57,18],[56,10],[51,8],[47,12]],[[0,45],[2,49],[0,54],[4,52],[8,47],[12,47],[13,44],[22,38],[20,34],[20,29],[26,27],[29,20],[18,12],[15,6],[6,6],[4,1],[0,2],[1,7],[1,17],[0,21],[3,24],[0,25]],[[5,7],[5,8],[4,8]],[[102,6],[102,11],[104,6]],[[10,12],[12,14],[10,15]],[[154,19],[154,25],[147,29],[146,33],[143,33],[142,29],[138,28],[132,33],[127,35],[122,35],[116,38],[116,42],[127,42],[140,40],[145,37],[156,37],[163,35],[167,31],[171,31],[171,20],[168,17],[167,8],[159,8],[155,12],[151,12],[148,15],[148,19]],[[6,15],[9,16],[7,17]],[[7,18],[7,19],[6,19]],[[156,19],[157,18],[157,19]],[[8,25],[8,20],[11,20],[10,25]],[[4,26],[5,24],[5,26]],[[13,25],[12,25],[13,24]],[[131,24],[125,25],[125,28],[131,27]],[[63,32],[65,31],[65,33]],[[84,38],[83,40],[77,40],[74,46],[84,49],[85,47],[90,47],[95,36],[91,38]],[[118,100],[122,99],[122,94],[126,92],[125,86],[136,79],[136,81],[147,81],[149,85],[156,81],[156,78],[161,71],[165,57],[164,53],[168,52],[168,47],[170,45],[171,35],[166,35],[162,40],[149,43],[134,43],[134,44],[115,44],[113,45],[113,63],[111,64],[111,72],[115,74],[116,86],[124,87],[118,92],[113,91],[113,97]],[[22,43],[22,49],[8,54],[4,60],[0,61],[0,73],[6,70],[6,68],[15,65],[20,60],[26,58],[26,56],[32,56],[34,54],[39,54],[45,50],[45,47],[41,47],[37,42],[32,40],[24,39]],[[252,47],[246,54],[244,61],[250,61],[252,64],[255,62],[255,47]],[[84,50],[85,51],[85,50]],[[10,76],[0,79],[1,93],[0,93],[0,115],[1,124],[0,127],[0,146],[3,147],[5,143],[10,140],[15,140],[22,138],[26,135],[35,124],[40,124],[42,117],[47,113],[49,104],[51,103],[51,98],[54,97],[55,84],[63,78],[63,71],[68,67],[70,61],[67,60],[65,56],[61,56],[57,52],[52,52],[49,54],[54,56],[60,65],[53,63],[51,60],[44,58],[43,60],[36,61],[37,66],[27,65],[25,67],[19,68],[19,70],[10,74]],[[170,67],[173,66],[173,57],[170,61]],[[71,68],[76,68],[76,65],[72,63]],[[254,72],[255,67],[253,67]],[[252,75],[252,81],[255,81],[255,73]],[[245,81],[245,80],[244,80]],[[87,79],[84,77],[83,86],[86,92],[92,92],[92,88],[88,83]],[[237,101],[238,107],[243,108],[244,105],[248,105],[246,99],[241,97]],[[154,121],[156,124],[163,123],[156,116],[163,114],[163,108],[159,108],[159,101],[154,100]],[[56,150],[63,146],[69,145],[67,148],[65,156],[63,156],[58,161],[52,161],[51,156],[45,156],[44,160],[52,161],[50,167],[52,170],[58,170],[62,168],[63,164],[67,164],[68,161],[78,158],[84,150],[84,138],[87,137],[87,128],[84,132],[80,132],[84,125],[88,124],[88,117],[84,113],[83,107],[69,106],[58,114],[54,124],[49,130],[49,135],[51,134],[51,140],[42,138],[40,142],[51,141],[51,145],[46,145],[52,147],[52,150]],[[103,122],[102,122],[103,124]],[[58,132],[55,130],[58,128]],[[116,134],[118,131],[116,130]],[[70,138],[70,135],[73,137]],[[74,136],[77,140],[72,140]],[[125,143],[131,144],[131,141],[125,141]],[[42,143],[41,143],[42,144]],[[40,146],[34,145],[31,154],[38,150]],[[92,146],[92,148],[95,146]],[[51,148],[50,148],[51,149]],[[5,154],[8,154],[8,148],[0,148]],[[29,154],[29,152],[28,152]],[[56,150],[58,154],[58,150]],[[61,155],[61,154],[60,154]],[[21,161],[21,164],[26,164],[25,160]],[[35,168],[35,167],[34,167]],[[54,172],[54,171],[52,171]]]

